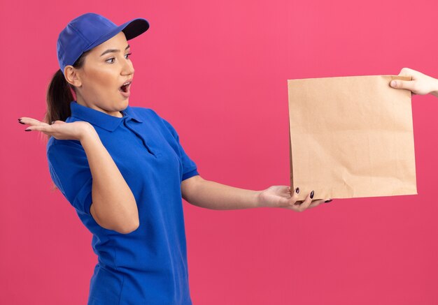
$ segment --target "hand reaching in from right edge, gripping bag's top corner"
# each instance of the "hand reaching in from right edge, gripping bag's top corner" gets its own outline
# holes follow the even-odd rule
[[[412,80],[393,80],[390,86],[396,89],[408,89],[412,94],[432,94],[438,97],[438,80],[429,75],[413,70],[402,68],[399,75],[411,76]]]

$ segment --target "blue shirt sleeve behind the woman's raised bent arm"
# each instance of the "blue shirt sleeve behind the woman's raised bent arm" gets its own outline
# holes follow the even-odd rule
[[[91,216],[92,174],[87,155],[80,144],[52,144],[47,158],[50,177],[76,211]]]

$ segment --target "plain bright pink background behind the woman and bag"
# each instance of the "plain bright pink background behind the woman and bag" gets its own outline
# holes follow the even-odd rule
[[[130,105],[169,119],[204,179],[239,188],[289,184],[288,79],[438,77],[432,0],[2,0],[0,304],[87,299],[92,235],[50,191],[45,136],[17,123],[43,118],[59,31],[87,12],[150,22],[130,40]],[[412,107],[418,195],[304,213],[183,202],[194,304],[438,304],[438,99]]]

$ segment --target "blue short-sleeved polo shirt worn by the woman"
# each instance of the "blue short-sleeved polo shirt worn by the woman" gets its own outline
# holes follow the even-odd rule
[[[90,214],[92,174],[80,141],[50,137],[50,176],[92,232],[98,258],[88,305],[192,304],[181,181],[198,172],[178,133],[150,108],[128,105],[120,118],[76,101],[70,108],[66,122],[94,126],[139,210],[139,228],[129,234],[102,228]]]

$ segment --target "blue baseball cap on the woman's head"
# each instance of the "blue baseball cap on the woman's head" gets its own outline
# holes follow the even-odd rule
[[[83,52],[104,43],[123,31],[126,40],[132,39],[149,29],[149,22],[136,18],[117,26],[106,17],[95,13],[85,13],[71,20],[59,33],[57,54],[59,68],[64,74],[65,66],[72,65]]]

